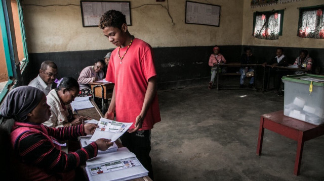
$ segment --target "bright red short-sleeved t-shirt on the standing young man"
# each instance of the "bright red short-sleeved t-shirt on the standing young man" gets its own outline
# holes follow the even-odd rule
[[[120,48],[120,57],[124,55],[127,47]],[[132,129],[136,117],[142,110],[148,79],[156,76],[153,51],[148,43],[134,38],[120,64],[118,49],[119,47],[111,52],[106,80],[115,83],[116,120],[118,122],[134,123],[131,126]],[[150,130],[160,120],[156,94],[147,110],[140,130]]]

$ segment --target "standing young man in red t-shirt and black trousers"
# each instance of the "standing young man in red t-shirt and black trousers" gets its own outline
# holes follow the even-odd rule
[[[102,15],[99,27],[117,46],[111,52],[107,70],[106,80],[115,87],[105,117],[113,119],[115,111],[118,122],[134,123],[120,140],[135,153],[153,179],[150,130],[161,118],[152,47],[129,33],[126,17],[119,11],[110,10]]]

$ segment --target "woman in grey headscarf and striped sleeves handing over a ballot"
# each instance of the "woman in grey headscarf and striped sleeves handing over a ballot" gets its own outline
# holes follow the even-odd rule
[[[15,122],[10,139],[18,180],[74,180],[79,175],[75,174],[75,168],[96,157],[98,149],[106,150],[113,144],[110,140],[98,139],[75,152],[62,152],[58,140],[93,134],[97,125],[58,129],[44,126],[42,123],[51,115],[50,106],[45,94],[34,87],[21,86],[10,91],[0,113]]]

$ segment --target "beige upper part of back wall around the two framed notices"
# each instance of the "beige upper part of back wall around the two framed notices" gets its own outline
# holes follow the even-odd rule
[[[143,6],[132,9],[129,31],[152,47],[240,45],[242,42],[241,0],[196,1],[221,6],[220,27],[185,24],[185,0],[169,0],[169,10],[175,23],[171,24],[166,9]],[[110,49],[110,44],[97,27],[82,27],[80,6],[26,6],[79,5],[79,0],[24,0],[27,44],[30,53],[76,50]],[[167,1],[131,0],[131,8]]]

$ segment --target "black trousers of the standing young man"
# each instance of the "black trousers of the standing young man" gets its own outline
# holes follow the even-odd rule
[[[151,130],[124,133],[120,137],[121,144],[133,152],[142,165],[148,170],[148,176],[153,180],[153,169],[150,157]]]

